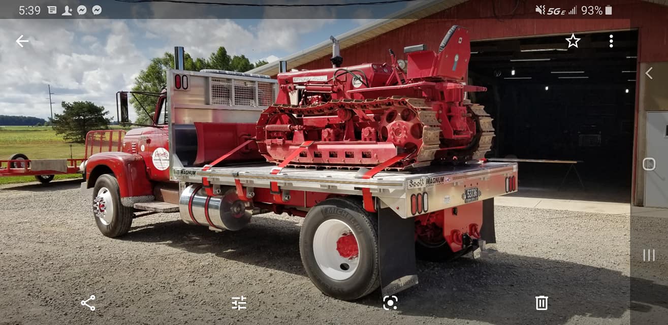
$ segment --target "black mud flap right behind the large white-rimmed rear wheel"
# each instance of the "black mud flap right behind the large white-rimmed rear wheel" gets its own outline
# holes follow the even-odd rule
[[[391,208],[378,211],[381,292],[383,296],[391,296],[418,284],[415,220],[403,219]]]

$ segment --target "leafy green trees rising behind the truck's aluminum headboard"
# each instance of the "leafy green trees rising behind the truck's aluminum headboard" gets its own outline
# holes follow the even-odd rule
[[[184,69],[189,71],[200,71],[202,69],[218,69],[227,71],[246,72],[254,67],[267,64],[267,61],[257,61],[253,64],[245,55],[234,55],[230,57],[224,47],[211,53],[208,59],[198,57],[193,59],[190,54],[184,53],[183,65]],[[151,59],[146,69],[140,71],[139,75],[134,79],[134,86],[132,91],[140,91],[145,93],[160,93],[167,85],[166,73],[167,69],[174,69],[174,54],[165,52],[162,57],[155,57]],[[137,124],[150,124],[150,116],[148,113],[154,111],[154,107],[158,101],[158,97],[151,95],[130,95],[130,103],[137,113]],[[146,111],[144,111],[146,109]]]

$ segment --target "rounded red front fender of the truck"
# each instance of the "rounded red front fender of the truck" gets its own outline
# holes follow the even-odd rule
[[[98,177],[113,174],[118,181],[121,204],[132,207],[155,199],[153,186],[140,155],[126,152],[96,153],[86,161],[86,188],[93,188]]]

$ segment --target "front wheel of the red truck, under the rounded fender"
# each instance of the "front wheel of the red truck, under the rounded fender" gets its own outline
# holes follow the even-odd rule
[[[104,174],[95,182],[93,217],[104,236],[115,238],[130,230],[134,210],[121,204],[116,178]]]

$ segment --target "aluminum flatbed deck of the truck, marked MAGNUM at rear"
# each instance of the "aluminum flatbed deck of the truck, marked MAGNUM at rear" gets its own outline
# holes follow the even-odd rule
[[[363,188],[391,207],[401,218],[438,211],[462,204],[486,200],[516,190],[517,164],[484,163],[462,166],[429,166],[405,172],[379,172],[363,179],[357,170],[315,170],[283,168],[271,174],[275,164],[232,165],[202,168],[172,168],[172,180],[234,186],[236,180],[245,188],[270,188],[277,182],[281,190],[327,192],[361,195]],[[415,210],[411,200],[420,195],[423,209]],[[413,209],[411,209],[413,208]]]

